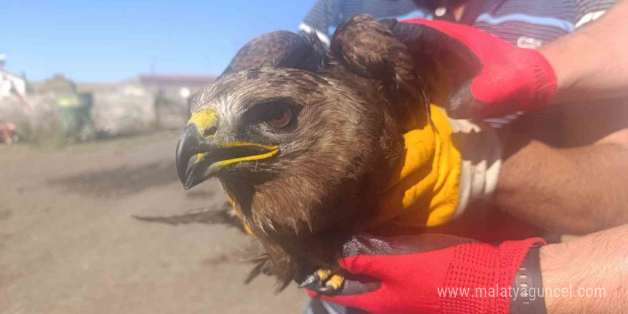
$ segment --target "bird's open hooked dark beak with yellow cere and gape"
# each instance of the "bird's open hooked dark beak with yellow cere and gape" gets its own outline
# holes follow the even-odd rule
[[[243,141],[220,141],[218,112],[215,108],[192,115],[177,144],[176,166],[183,187],[192,188],[221,171],[242,161],[258,161],[279,152],[279,146]],[[190,159],[194,158],[190,165]],[[188,166],[189,165],[189,166]]]

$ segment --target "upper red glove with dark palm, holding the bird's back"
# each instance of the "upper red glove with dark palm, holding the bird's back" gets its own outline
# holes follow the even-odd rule
[[[414,55],[421,76],[439,76],[432,86],[449,95],[437,103],[454,118],[487,118],[533,111],[554,96],[556,75],[534,49],[522,49],[470,26],[446,21],[383,21]],[[428,66],[429,68],[429,66]],[[419,69],[421,70],[421,69]],[[437,72],[437,73],[435,73]],[[430,77],[427,78],[430,83]]]

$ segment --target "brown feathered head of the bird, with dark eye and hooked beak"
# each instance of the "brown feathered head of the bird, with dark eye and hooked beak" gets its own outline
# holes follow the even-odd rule
[[[330,211],[360,203],[360,178],[384,153],[383,106],[353,89],[297,69],[222,76],[193,97],[176,151],[181,182],[219,178],[254,232],[282,239],[346,218],[351,208]]]

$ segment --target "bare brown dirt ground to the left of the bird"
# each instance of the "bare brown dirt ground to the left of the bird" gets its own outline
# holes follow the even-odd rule
[[[216,181],[183,191],[177,138],[0,146],[0,313],[300,313],[295,285],[243,284],[236,228],[131,217],[224,201]]]

